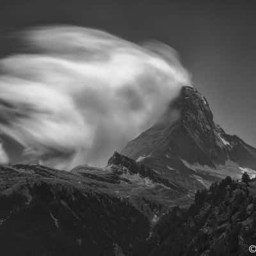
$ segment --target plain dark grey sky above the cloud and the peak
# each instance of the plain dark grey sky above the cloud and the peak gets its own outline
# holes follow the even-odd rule
[[[1,0],[0,54],[22,51],[13,31],[45,24],[159,40],[179,52],[215,121],[256,147],[255,11],[253,1]]]

